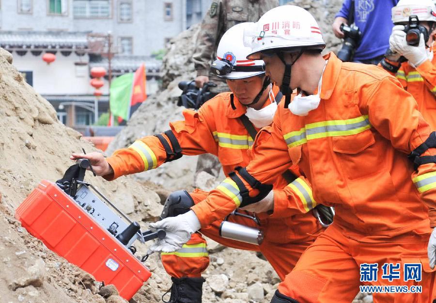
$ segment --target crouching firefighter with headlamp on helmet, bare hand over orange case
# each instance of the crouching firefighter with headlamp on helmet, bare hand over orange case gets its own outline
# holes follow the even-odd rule
[[[114,152],[107,161],[100,153],[73,154],[72,159],[88,158],[98,175],[114,180],[122,175],[156,168],[182,155],[211,153],[218,155],[225,174],[234,176],[235,167],[248,165],[254,141],[242,117],[248,117],[246,121],[252,123],[257,132],[271,124],[281,99],[279,88],[265,77],[264,62],[246,59],[250,48],[243,45],[242,37],[249,25],[238,24],[223,35],[218,45],[218,58],[213,64],[213,70],[227,80],[232,92],[218,94],[198,112],[185,110],[185,120],[170,123],[171,130],[136,140],[129,148]],[[297,169],[294,173],[299,175]],[[280,175],[271,184],[273,190],[271,185],[262,185],[258,188],[262,195],[252,198],[242,192],[234,195],[233,181],[224,182],[220,187],[232,195],[234,204],[244,210],[239,212],[255,213],[260,224],[236,215],[230,216],[229,221],[261,228],[264,240],[260,245],[220,237],[223,218],[204,225],[200,232],[226,246],[262,252],[283,280],[323,228],[312,215],[311,210],[317,205],[306,178],[300,176],[287,181],[285,175]],[[189,208],[205,199],[207,194],[199,189],[189,194],[186,191],[172,193],[161,218],[177,214],[192,217]],[[264,203],[249,204],[259,200]],[[219,207],[220,203],[217,201],[216,205]],[[226,204],[227,199],[224,198],[222,203]],[[190,240],[175,251],[162,249],[163,265],[173,281],[171,302],[201,302],[201,273],[208,266],[209,257],[200,233],[189,234],[189,237]]]

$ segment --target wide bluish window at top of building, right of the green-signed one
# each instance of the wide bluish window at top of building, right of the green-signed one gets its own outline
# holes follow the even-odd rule
[[[109,18],[110,0],[73,0],[75,18]]]

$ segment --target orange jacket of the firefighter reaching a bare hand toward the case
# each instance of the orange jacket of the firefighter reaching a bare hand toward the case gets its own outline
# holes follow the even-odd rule
[[[274,95],[278,91],[279,88],[274,86]],[[226,175],[232,172],[234,167],[248,165],[251,158],[249,147],[253,144],[247,129],[240,119],[237,119],[246,113],[247,107],[234,98],[233,108],[230,96],[230,92],[220,93],[206,102],[198,112],[184,110],[184,121],[170,123],[172,133],[177,138],[184,155],[202,153],[217,155]],[[115,151],[107,160],[114,174],[105,176],[105,179],[113,180],[122,175],[138,173],[162,165],[166,160],[166,152],[156,136],[146,136],[136,140],[129,148]],[[232,182],[224,184],[230,187],[230,191],[232,191]],[[298,208],[290,207],[290,204],[293,204],[289,203],[289,200],[294,199],[299,201],[300,205],[303,204],[302,201],[309,203],[310,208],[307,212],[316,205],[315,202],[310,201],[311,187],[306,178],[299,177],[287,186],[288,183],[279,176],[272,183],[274,183],[274,212],[271,215],[258,214],[260,219],[267,219],[271,223],[268,224],[269,234],[275,238],[301,239],[307,237],[306,233],[314,233],[320,229],[311,213],[302,214]],[[296,186],[293,185],[294,183]],[[239,206],[241,201],[238,197],[233,196],[233,199]],[[220,208],[221,204],[226,203],[227,200],[224,198],[215,201],[215,206]],[[294,216],[290,218],[292,215]]]

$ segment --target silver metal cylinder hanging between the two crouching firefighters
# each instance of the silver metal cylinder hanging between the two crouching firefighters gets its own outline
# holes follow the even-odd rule
[[[226,239],[246,242],[254,245],[260,245],[264,241],[264,233],[262,230],[229,221],[221,222],[219,227],[219,235]]]

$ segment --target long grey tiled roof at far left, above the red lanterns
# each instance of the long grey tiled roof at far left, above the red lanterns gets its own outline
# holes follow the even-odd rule
[[[89,32],[0,31],[0,47],[5,49],[87,49]]]

